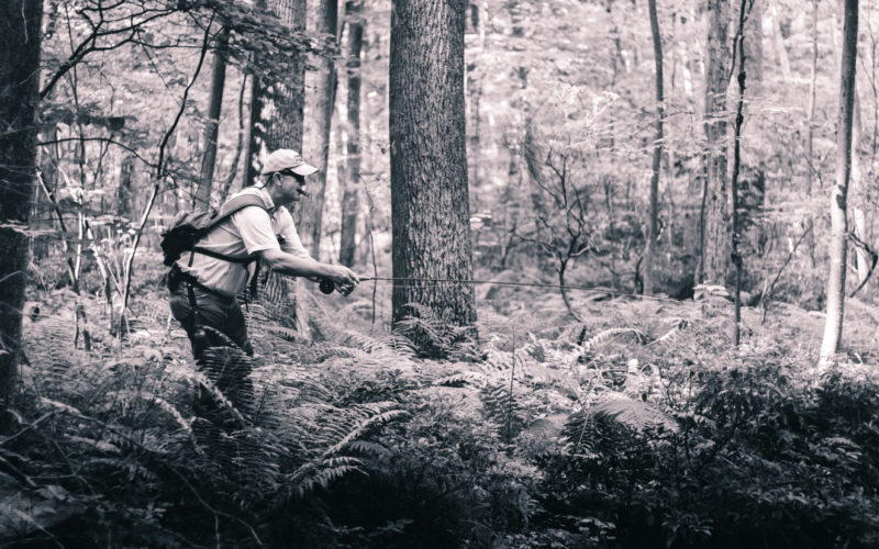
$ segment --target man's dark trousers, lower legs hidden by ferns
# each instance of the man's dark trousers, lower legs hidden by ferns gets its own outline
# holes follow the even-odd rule
[[[171,314],[186,329],[199,369],[240,412],[247,413],[253,402],[251,361],[254,349],[247,337],[241,305],[235,298],[181,282],[170,299]],[[194,302],[193,302],[194,301]],[[242,352],[243,351],[243,352]],[[196,402],[197,415],[215,419],[223,406],[204,388]]]

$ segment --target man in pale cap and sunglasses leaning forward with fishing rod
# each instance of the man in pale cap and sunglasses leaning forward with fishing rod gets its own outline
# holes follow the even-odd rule
[[[340,293],[347,295],[359,283],[357,274],[347,267],[312,259],[299,239],[290,212],[283,206],[305,194],[305,177],[315,171],[318,168],[305,164],[294,150],[271,153],[263,166],[260,182],[236,194],[254,194],[265,208],[244,206],[213,227],[198,242],[198,247],[221,256],[257,257],[272,270],[291,277],[329,279]],[[233,396],[243,389],[249,391],[246,380],[249,369],[240,363],[230,365],[227,359],[211,359],[207,351],[227,343],[205,326],[223,334],[253,356],[244,315],[236,300],[247,279],[246,262],[223,260],[198,251],[183,253],[169,276],[171,312],[187,330],[196,360],[213,378],[218,389],[236,405],[246,404],[248,400],[246,395],[243,399]]]

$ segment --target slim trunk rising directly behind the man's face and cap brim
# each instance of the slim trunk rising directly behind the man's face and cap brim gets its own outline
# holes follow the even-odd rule
[[[332,34],[338,42],[338,1],[320,0],[319,33]],[[320,57],[318,86],[314,92],[315,132],[310,132],[307,158],[318,168],[318,172],[309,178],[309,193],[300,212],[297,228],[302,243],[311,250],[314,258],[321,255],[321,232],[323,228],[323,202],[326,191],[326,171],[330,165],[330,133],[333,122],[333,110],[336,102],[336,67],[334,57]]]

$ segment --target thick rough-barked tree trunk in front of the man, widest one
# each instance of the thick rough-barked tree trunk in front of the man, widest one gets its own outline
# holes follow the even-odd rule
[[[394,0],[390,144],[393,322],[424,316],[472,326],[476,305],[464,111],[464,0]],[[422,351],[442,354],[424,330]],[[435,343],[435,341],[433,341]]]

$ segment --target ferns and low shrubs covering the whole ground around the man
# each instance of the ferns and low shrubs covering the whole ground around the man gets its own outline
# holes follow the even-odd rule
[[[193,414],[210,381],[156,282],[122,339],[84,299],[87,352],[70,290],[36,281],[0,440],[4,547],[879,545],[869,305],[819,370],[823,320],[793,305],[746,307],[735,350],[711,292],[570,291],[574,322],[560,295],[492,287],[478,345],[413,321],[452,346],[429,360],[371,323],[369,285],[300,289],[311,340],[281,322],[289,288],[249,300],[256,357],[222,359],[253,360],[254,404],[224,430]]]

